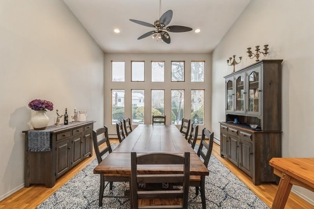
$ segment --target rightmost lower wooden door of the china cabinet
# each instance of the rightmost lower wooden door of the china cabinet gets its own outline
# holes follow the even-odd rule
[[[252,143],[240,139],[239,168],[252,177],[253,150]]]

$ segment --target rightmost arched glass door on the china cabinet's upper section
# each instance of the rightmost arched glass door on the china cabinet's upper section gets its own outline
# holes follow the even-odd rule
[[[254,69],[248,70],[246,72],[246,81],[247,81],[247,104],[246,104],[246,113],[248,115],[261,116],[261,98],[262,98],[262,89],[261,89],[261,69],[262,66],[257,66]]]

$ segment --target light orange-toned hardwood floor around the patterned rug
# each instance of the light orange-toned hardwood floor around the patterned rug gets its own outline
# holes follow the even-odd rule
[[[117,139],[110,139],[111,143],[119,143]],[[254,186],[251,179],[237,167],[235,167],[228,160],[220,157],[220,146],[214,143],[212,154],[226,167],[228,167],[246,186],[248,186],[262,201],[271,207],[274,200],[277,186],[275,184],[263,183],[261,186]],[[46,188],[44,185],[32,185],[28,188],[22,188],[14,194],[10,195],[6,199],[0,202],[0,208],[3,209],[34,209],[41,204],[46,198],[52,195],[58,188],[68,182],[74,175],[76,175],[81,169],[88,165],[93,159],[87,158],[83,162],[79,163],[72,170],[65,173],[63,176],[56,180],[55,186],[52,188]],[[98,185],[97,185],[98,186]],[[286,209],[314,209],[314,206],[310,205],[303,199],[299,198],[293,193],[290,193]]]

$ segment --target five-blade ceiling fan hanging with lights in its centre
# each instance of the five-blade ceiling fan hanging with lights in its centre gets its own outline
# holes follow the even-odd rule
[[[190,27],[185,27],[185,26],[181,26],[181,25],[167,26],[172,19],[172,13],[173,13],[172,10],[166,11],[161,16],[160,16],[160,13],[161,13],[161,0],[159,0],[159,17],[160,18],[159,18],[159,20],[156,20],[154,22],[154,24],[130,19],[130,21],[133,23],[137,23],[137,24],[141,24],[141,25],[144,25],[147,27],[154,27],[155,28],[152,31],[144,33],[143,35],[138,37],[137,40],[146,38],[148,36],[152,36],[153,38],[157,37],[157,40],[161,39],[165,43],[170,44],[171,40],[170,40],[170,36],[169,36],[168,32],[176,32],[177,33],[177,32],[187,32],[187,31],[192,30],[192,28],[190,28]]]

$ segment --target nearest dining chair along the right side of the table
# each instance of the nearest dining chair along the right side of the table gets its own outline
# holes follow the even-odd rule
[[[209,140],[209,142],[207,142]],[[214,133],[204,128],[202,130],[202,138],[200,145],[197,150],[197,155],[204,160],[204,165],[207,167],[211,156],[212,145],[214,141]],[[201,203],[202,208],[206,209],[206,197],[205,197],[205,178],[201,176],[190,176],[190,186],[195,186],[195,194],[198,195],[199,190],[201,191],[202,202],[189,202],[189,203]]]

